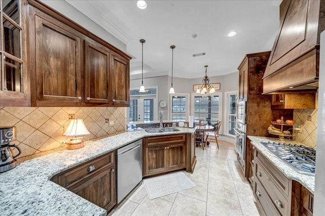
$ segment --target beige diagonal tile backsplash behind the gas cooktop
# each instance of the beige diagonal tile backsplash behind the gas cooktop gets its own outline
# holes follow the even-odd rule
[[[318,107],[318,94],[316,94],[315,107]],[[302,127],[302,133],[297,133],[297,136],[294,137],[294,140],[312,148],[316,148],[317,111],[317,108],[294,110],[295,125],[301,125]],[[311,121],[308,121],[308,115],[311,116]]]

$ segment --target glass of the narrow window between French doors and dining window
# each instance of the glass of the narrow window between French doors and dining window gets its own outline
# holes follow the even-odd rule
[[[172,121],[185,121],[186,97],[172,96]]]

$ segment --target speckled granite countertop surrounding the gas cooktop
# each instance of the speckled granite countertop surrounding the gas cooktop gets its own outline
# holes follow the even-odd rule
[[[301,185],[307,188],[312,194],[314,194],[315,176],[300,174],[299,172],[295,171],[293,168],[288,166],[280,158],[272,154],[265,146],[261,144],[262,141],[283,143],[283,140],[277,138],[269,138],[269,137],[255,137],[255,136],[247,136],[247,137],[249,140],[251,140],[251,144],[255,146],[255,148],[259,150],[259,152],[261,152],[264,156],[266,156],[272,162],[272,164],[275,165],[288,179],[299,182]],[[285,143],[304,145],[295,140],[285,140]]]

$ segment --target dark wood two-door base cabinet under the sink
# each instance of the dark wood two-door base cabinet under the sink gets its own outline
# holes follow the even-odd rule
[[[143,177],[186,168],[186,135],[144,138]]]

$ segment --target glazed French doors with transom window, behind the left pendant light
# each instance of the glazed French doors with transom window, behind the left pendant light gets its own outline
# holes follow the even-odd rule
[[[139,89],[130,90],[130,106],[128,108],[128,121],[148,122],[157,120],[156,88],[146,89],[140,93]]]

